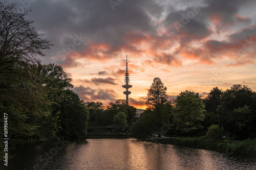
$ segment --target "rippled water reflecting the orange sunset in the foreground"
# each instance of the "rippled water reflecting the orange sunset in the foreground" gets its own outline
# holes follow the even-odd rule
[[[256,169],[255,157],[131,138],[87,139],[57,148],[56,142],[17,148],[8,168],[2,163],[0,169]]]

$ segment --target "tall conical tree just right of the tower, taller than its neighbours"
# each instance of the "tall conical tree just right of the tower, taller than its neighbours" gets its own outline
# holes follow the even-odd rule
[[[165,87],[160,78],[155,78],[150,89],[147,92],[146,106],[148,109],[154,110],[155,122],[158,130],[162,126],[163,115],[160,111],[161,107],[167,102],[168,95],[166,94],[167,87]]]

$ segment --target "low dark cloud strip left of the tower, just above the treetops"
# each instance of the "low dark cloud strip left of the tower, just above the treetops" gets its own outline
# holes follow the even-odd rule
[[[75,87],[73,91],[76,92],[81,99],[84,101],[115,101],[116,100],[116,92],[112,89],[97,89],[94,90],[90,87]]]

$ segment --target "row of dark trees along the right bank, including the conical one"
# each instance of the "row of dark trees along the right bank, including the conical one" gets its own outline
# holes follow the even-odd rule
[[[215,87],[205,99],[186,90],[168,101],[166,87],[155,78],[147,96],[147,108],[131,129],[134,137],[256,138],[256,93],[246,85],[234,84],[226,91]]]

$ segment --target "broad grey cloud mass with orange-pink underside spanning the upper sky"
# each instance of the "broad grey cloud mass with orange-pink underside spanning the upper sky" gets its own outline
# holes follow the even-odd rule
[[[24,1],[11,0],[11,2],[22,5],[20,2]],[[199,5],[200,2],[204,3]],[[45,0],[31,2],[28,10],[31,9],[32,12],[27,17],[34,20],[34,26],[39,29],[39,32],[44,33],[45,38],[55,44],[50,51],[45,52],[47,54],[47,57],[43,59],[45,63],[54,60],[63,67],[78,67],[82,66],[77,61],[80,58],[104,62],[117,57],[117,53],[121,51],[142,54],[145,51],[136,46],[142,45],[144,42],[155,42],[150,47],[151,49],[148,49],[151,52],[159,49],[168,50],[161,44],[161,42],[167,44],[168,41],[176,41],[180,44],[180,48],[195,51],[189,47],[188,43],[210,36],[212,33],[210,21],[216,21],[214,24],[217,32],[240,22],[245,24],[243,26],[248,26],[251,19],[240,16],[238,13],[243,7],[254,4],[253,0],[183,0],[172,5],[170,5],[170,1],[157,1],[156,3],[154,0],[140,0],[124,1],[119,6],[115,6],[115,11],[113,11],[109,1],[105,0]],[[195,7],[199,9],[198,12],[195,12]],[[195,15],[190,17],[188,23],[183,24],[184,27],[178,31],[174,23],[182,23],[183,16],[188,17],[191,11],[194,11]],[[168,14],[166,18],[161,18],[164,12]],[[162,21],[160,18],[164,20]],[[157,29],[161,25],[168,28],[166,28],[166,34],[159,36]],[[230,35],[229,38],[231,40],[244,38],[247,34],[248,36],[254,34],[254,31],[245,29]],[[74,49],[64,55],[63,53],[69,45],[73,44],[74,46],[77,35],[86,37],[86,40],[75,45]],[[205,42],[206,46],[212,47],[212,49],[217,49],[220,46],[217,41]],[[172,45],[168,47],[170,48]],[[179,57],[174,56],[182,55],[179,52],[184,51],[183,49],[176,49],[174,54],[152,53],[152,59],[149,59],[148,62],[181,66],[182,62]],[[58,55],[59,52],[62,55]],[[194,54],[200,60],[206,61],[204,63],[211,63],[210,58],[215,56],[210,54],[203,56],[203,52],[205,51],[197,50]],[[117,71],[117,74],[121,74],[121,71]]]

